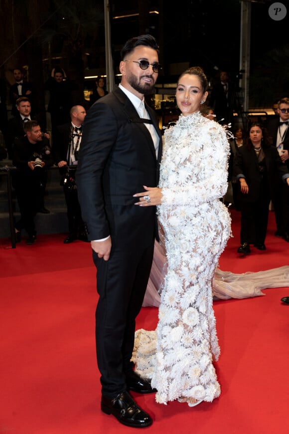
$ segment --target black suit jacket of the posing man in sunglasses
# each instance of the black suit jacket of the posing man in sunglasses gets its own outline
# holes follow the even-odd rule
[[[85,117],[76,182],[90,240],[110,234],[113,246],[136,239],[146,246],[156,234],[155,207],[137,207],[133,197],[159,180],[161,133],[154,111],[146,109],[160,139],[157,157],[149,131],[118,86]]]

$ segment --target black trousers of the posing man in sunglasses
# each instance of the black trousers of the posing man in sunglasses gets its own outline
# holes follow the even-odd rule
[[[139,314],[150,273],[153,242],[146,248],[112,248],[108,261],[93,252],[99,301],[96,309],[97,361],[102,393],[115,398],[126,390]]]

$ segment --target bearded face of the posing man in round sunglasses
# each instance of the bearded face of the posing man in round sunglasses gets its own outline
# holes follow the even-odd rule
[[[147,69],[142,69],[138,63],[140,60],[145,60],[149,63]],[[137,61],[137,63],[135,63]],[[133,93],[141,95],[151,94],[156,82],[158,72],[153,72],[151,64],[158,64],[157,52],[143,45],[140,45],[130,53],[124,61],[121,62],[121,72],[124,82],[132,89]],[[134,92],[136,91],[136,92]]]

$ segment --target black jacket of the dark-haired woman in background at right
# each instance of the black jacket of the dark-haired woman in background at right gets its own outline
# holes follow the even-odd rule
[[[287,166],[282,163],[276,147],[270,146],[269,148],[264,148],[263,150],[265,153],[267,170],[268,195],[272,198],[276,176],[278,175],[279,178],[282,179],[282,176],[289,171]],[[262,174],[260,173],[256,152],[253,148],[241,146],[235,155],[233,175],[237,177],[241,174],[245,175],[246,177],[246,183],[248,184],[249,192],[248,194],[241,193],[240,182],[238,181],[238,199],[244,202],[257,201],[260,196]]]

